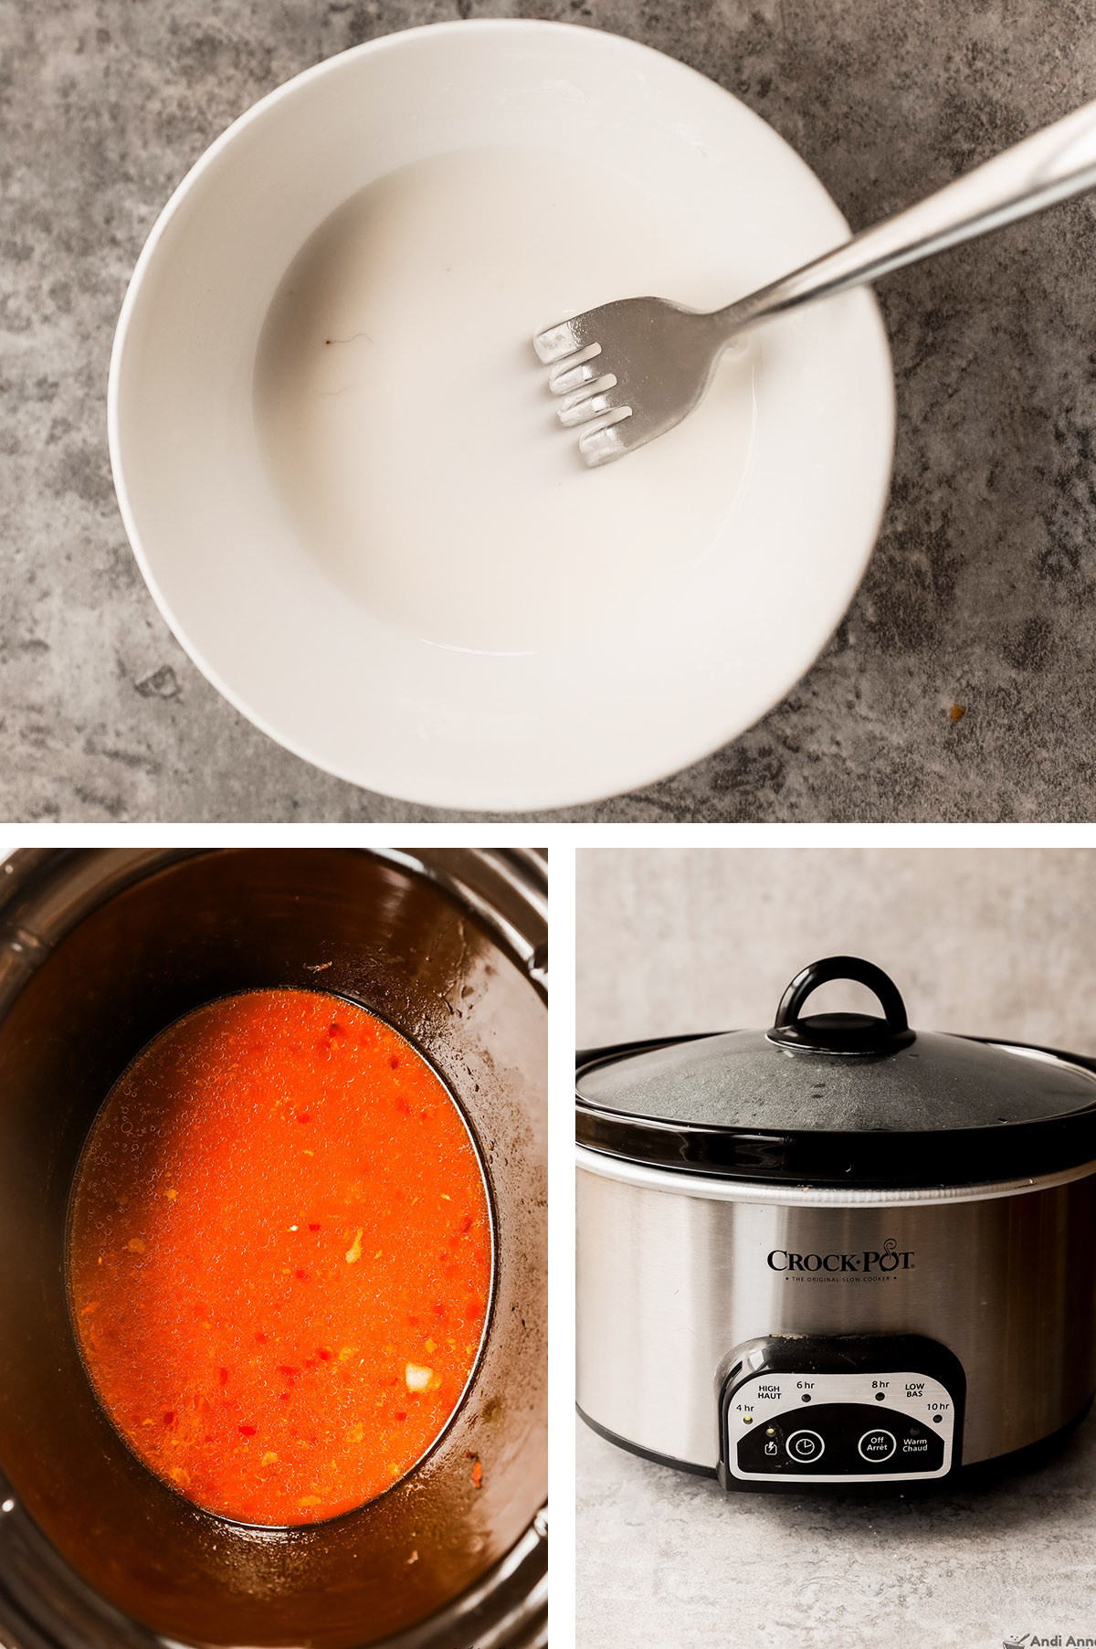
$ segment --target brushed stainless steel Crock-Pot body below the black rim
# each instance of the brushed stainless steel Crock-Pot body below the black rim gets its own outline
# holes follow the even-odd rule
[[[948,1436],[939,1476],[1033,1445],[1075,1421],[1096,1388],[1094,1176],[1088,1163],[1004,1184],[852,1191],[750,1184],[578,1148],[578,1408],[618,1443],[720,1476],[720,1456],[735,1453],[735,1418],[720,1418],[720,1405],[728,1380],[752,1367],[742,1390],[771,1402],[765,1415],[738,1402],[738,1433],[781,1410],[783,1425],[763,1428],[768,1443],[758,1433],[756,1446],[780,1449],[785,1468],[794,1449],[821,1449],[824,1428],[808,1431],[804,1418],[803,1441],[794,1426],[821,1413],[811,1402],[826,1395],[855,1398],[855,1413],[874,1398],[916,1410],[910,1431],[928,1436],[923,1446]],[[841,1380],[819,1390],[817,1355],[845,1336],[882,1355],[842,1397]],[[888,1339],[906,1336],[943,1347],[961,1372],[921,1388],[930,1369],[893,1367],[916,1352],[887,1355]],[[776,1346],[776,1362],[758,1346]],[[758,1384],[776,1380],[776,1364],[783,1385]],[[898,1382],[910,1402],[895,1397]],[[893,1453],[895,1433],[893,1421],[880,1426],[877,1449]],[[878,1476],[883,1454],[865,1453],[869,1430],[850,1438],[865,1476]],[[911,1464],[911,1476],[926,1474]],[[813,1471],[826,1481],[821,1459]],[[733,1476],[728,1487],[753,1474]],[[903,1476],[892,1459],[888,1479]]]

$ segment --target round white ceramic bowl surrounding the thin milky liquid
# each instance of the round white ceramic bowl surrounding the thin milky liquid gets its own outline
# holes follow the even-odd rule
[[[148,587],[239,711],[371,790],[461,811],[541,811],[700,759],[811,666],[878,531],[893,383],[869,292],[789,317],[732,363],[748,374],[748,427],[727,429],[715,518],[691,513],[697,488],[682,485],[681,465],[700,439],[696,419],[709,420],[705,452],[722,450],[710,445],[719,396],[616,465],[574,460],[560,485],[621,488],[620,541],[583,546],[578,534],[577,549],[522,571],[529,590],[518,594],[531,613],[546,590],[557,613],[574,595],[588,608],[582,623],[542,635],[534,625],[534,641],[522,632],[513,650],[485,650],[438,645],[391,610],[371,612],[316,557],[272,475],[255,412],[264,322],[305,242],[358,191],[432,155],[498,147],[602,168],[610,191],[618,180],[653,203],[649,262],[638,259],[621,290],[597,292],[583,287],[583,234],[570,234],[565,203],[546,203],[567,259],[555,307],[547,287],[531,292],[527,335],[648,280],[661,282],[658,295],[715,307],[847,234],[763,120],[659,53],[541,21],[389,35],[272,92],[180,185],[125,297],[109,430]],[[539,419],[534,397],[547,402],[547,391],[531,350],[529,397]],[[547,404],[542,416],[544,430],[531,430],[547,440]],[[430,452],[420,472],[429,488]],[[709,460],[707,490],[710,472]],[[631,574],[628,505],[641,493],[623,488],[666,503],[674,483],[684,526],[674,528],[669,493],[666,554]],[[382,562],[386,546],[371,551]]]

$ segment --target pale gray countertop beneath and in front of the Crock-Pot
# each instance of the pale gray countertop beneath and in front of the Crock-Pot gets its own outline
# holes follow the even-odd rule
[[[1035,1471],[931,1499],[725,1494],[582,1421],[577,1468],[575,1649],[1096,1639],[1096,1418]]]

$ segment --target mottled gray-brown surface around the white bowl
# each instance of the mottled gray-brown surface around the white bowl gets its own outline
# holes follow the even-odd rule
[[[682,58],[854,226],[1096,96],[1088,0],[0,0],[0,816],[448,816],[302,763],[190,665],[125,543],[104,389],[132,264],[209,140],[298,69],[457,15]],[[1096,815],[1094,246],[1078,201],[883,284],[897,473],[845,623],[737,744],[559,818]]]

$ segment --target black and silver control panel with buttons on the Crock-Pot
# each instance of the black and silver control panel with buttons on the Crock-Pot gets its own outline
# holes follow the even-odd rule
[[[946,1478],[966,1382],[921,1336],[773,1336],[738,1347],[720,1387],[720,1481],[864,1484]]]

